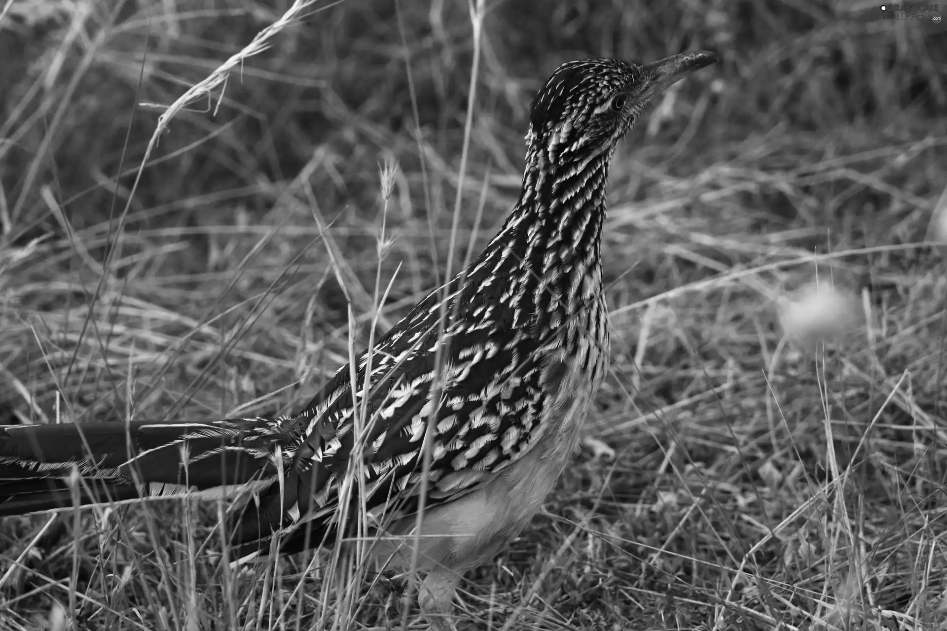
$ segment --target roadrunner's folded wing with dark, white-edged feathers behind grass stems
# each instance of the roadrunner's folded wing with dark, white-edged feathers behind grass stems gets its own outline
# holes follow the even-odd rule
[[[548,351],[558,343],[512,326],[509,318],[472,320],[465,317],[473,314],[469,309],[438,342],[433,296],[358,360],[354,376],[342,368],[295,417],[295,431],[305,439],[284,483],[247,506],[235,529],[243,552],[262,547],[280,529],[294,532],[284,539],[284,552],[329,542],[341,519],[352,522],[342,509],[357,501],[380,522],[416,511],[432,411],[428,507],[488,482],[541,438],[548,372],[554,370]],[[343,485],[351,489],[345,507]],[[302,523],[305,534],[298,529]]]

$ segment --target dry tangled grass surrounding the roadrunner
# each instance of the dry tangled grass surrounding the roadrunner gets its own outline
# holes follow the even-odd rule
[[[584,453],[461,611],[943,628],[947,274],[922,241],[947,203],[947,26],[670,4],[489,2],[472,75],[460,2],[3,3],[0,422],[298,408],[491,236],[559,62],[714,48],[612,168],[614,371],[587,434],[616,458]],[[816,273],[865,324],[802,347],[777,303]],[[324,559],[231,571],[222,515],[5,519],[0,628],[344,628]],[[355,588],[349,628],[399,628],[384,580]]]

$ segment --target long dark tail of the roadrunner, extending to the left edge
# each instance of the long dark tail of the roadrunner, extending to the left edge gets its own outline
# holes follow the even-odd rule
[[[0,426],[0,516],[265,488],[277,471],[260,437],[276,422]]]

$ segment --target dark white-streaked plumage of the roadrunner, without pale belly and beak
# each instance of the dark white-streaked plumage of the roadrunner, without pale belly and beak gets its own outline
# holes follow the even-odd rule
[[[0,515],[5,500],[12,507],[35,497],[50,489],[40,478],[76,465],[105,481],[105,495],[249,491],[254,499],[233,517],[239,552],[266,550],[277,531],[283,552],[296,552],[339,535],[348,508],[340,489],[359,482],[352,480],[356,470],[364,480],[351,488],[365,489],[359,500],[376,524],[417,510],[432,412],[427,509],[483,488],[537,446],[559,446],[564,462],[607,371],[605,184],[616,142],[643,105],[616,108],[613,98],[634,96],[646,79],[638,64],[592,60],[563,64],[546,81],[530,114],[522,192],[502,229],[467,270],[431,291],[357,359],[354,380],[351,367],[340,368],[292,416],[136,422],[120,441],[103,429],[92,456],[75,440],[71,451],[38,454],[33,428],[0,428]],[[556,410],[567,405],[576,409]]]

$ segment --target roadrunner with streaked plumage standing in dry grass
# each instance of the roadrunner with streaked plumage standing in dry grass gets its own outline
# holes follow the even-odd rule
[[[529,109],[498,233],[301,411],[0,426],[0,516],[223,498],[238,561],[370,532],[376,564],[416,572],[432,631],[454,631],[462,575],[541,509],[608,371],[601,239],[618,141],[652,96],[716,61],[563,63]]]

